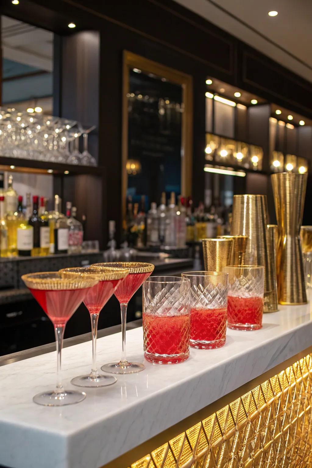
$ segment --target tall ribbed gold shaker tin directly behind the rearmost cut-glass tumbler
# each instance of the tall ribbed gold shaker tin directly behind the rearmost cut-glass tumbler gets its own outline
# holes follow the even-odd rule
[[[276,295],[276,289],[271,281],[272,251],[268,239],[267,197],[234,195],[232,214],[231,234],[248,237],[244,263],[262,265],[265,268],[263,312],[272,312],[271,302]]]

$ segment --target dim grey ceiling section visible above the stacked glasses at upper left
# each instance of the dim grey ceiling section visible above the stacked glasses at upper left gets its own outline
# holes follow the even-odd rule
[[[1,16],[1,41],[2,57],[10,61],[4,66],[8,77],[34,70],[53,70],[53,33],[50,31]]]

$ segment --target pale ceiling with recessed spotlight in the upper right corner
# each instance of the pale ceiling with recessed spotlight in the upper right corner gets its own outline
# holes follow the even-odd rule
[[[312,82],[311,0],[175,1]]]

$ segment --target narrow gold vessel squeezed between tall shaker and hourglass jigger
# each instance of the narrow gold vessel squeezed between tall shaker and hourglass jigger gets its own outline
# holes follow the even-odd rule
[[[277,312],[277,275],[276,275],[276,248],[278,242],[278,227],[276,224],[268,224],[268,246],[271,252],[270,263],[268,265],[267,274],[267,289],[270,291],[268,295],[268,303],[265,312]]]

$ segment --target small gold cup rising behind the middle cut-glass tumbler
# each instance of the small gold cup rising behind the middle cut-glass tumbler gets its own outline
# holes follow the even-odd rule
[[[203,239],[205,271],[223,271],[231,263],[233,239]]]

